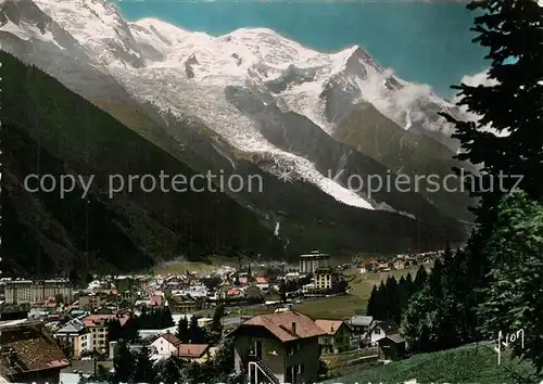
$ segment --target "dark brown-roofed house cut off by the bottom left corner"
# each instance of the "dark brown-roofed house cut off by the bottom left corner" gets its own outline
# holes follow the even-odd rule
[[[0,382],[59,383],[70,361],[54,337],[39,322],[0,328]]]

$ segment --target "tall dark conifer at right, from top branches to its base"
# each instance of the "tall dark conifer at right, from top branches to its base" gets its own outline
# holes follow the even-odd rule
[[[489,81],[477,87],[463,84],[453,88],[459,91],[458,105],[480,119],[466,121],[443,116],[456,127],[453,137],[460,141],[463,150],[457,158],[480,166],[480,176],[467,179],[469,190],[481,197],[475,209],[476,228],[466,248],[454,257],[454,263],[462,267],[455,287],[457,305],[463,307],[464,319],[467,319],[463,332],[479,338],[477,328],[484,329],[487,320],[478,317],[476,309],[483,305],[480,290],[489,289],[490,271],[495,270],[494,258],[487,249],[489,239],[494,238],[497,205],[502,196],[514,189],[526,191],[535,201],[543,200],[540,182],[543,9],[536,0],[472,1],[468,8],[481,14],[475,18],[472,30],[478,37],[473,41],[489,50]],[[483,129],[489,126],[504,135]],[[517,181],[520,182],[517,184]],[[469,292],[466,286],[470,287]]]

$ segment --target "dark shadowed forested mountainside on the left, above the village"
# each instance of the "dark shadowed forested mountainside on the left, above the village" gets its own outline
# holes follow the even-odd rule
[[[252,213],[224,194],[138,190],[110,200],[109,175],[194,171],[37,68],[4,52],[0,62],[8,269],[135,269],[178,255],[282,251]],[[24,191],[22,180],[33,172],[97,178],[88,202],[80,189],[61,200]]]

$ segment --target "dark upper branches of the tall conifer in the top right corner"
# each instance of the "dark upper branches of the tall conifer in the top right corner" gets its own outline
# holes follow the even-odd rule
[[[460,141],[464,150],[457,158],[480,165],[483,179],[488,181],[497,182],[502,174],[523,176],[518,185],[515,185],[516,178],[507,178],[502,180],[502,185],[494,184],[492,191],[477,180],[470,190],[483,200],[518,188],[541,201],[543,136],[535,132],[543,125],[543,9],[536,0],[472,1],[468,8],[482,13],[475,18],[471,29],[478,33],[473,42],[489,50],[490,84],[453,87],[459,91],[458,105],[481,116],[479,120],[465,121],[443,114],[455,124],[453,137]],[[483,130],[489,125],[508,135],[498,137]],[[497,187],[503,187],[504,191]],[[478,218],[480,221],[488,219]]]

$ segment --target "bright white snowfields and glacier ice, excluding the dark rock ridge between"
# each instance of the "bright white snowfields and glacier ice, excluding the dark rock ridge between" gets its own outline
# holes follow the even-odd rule
[[[12,9],[18,4],[16,0],[4,0],[4,3],[14,3]],[[148,104],[152,113],[174,116],[184,124],[197,119],[239,151],[268,152],[278,162],[285,159],[300,168],[306,174],[306,180],[334,199],[358,207],[368,207],[364,195],[345,191],[348,185],[337,180],[328,180],[326,185],[323,184],[319,181],[323,180],[321,171],[300,158],[302,156],[295,158],[289,155],[288,150],[279,150],[262,136],[255,123],[248,118],[247,111],[236,108],[225,100],[226,87],[251,86],[261,92],[267,103],[306,116],[328,133],[332,133],[341,118],[349,111],[357,110],[364,100],[376,104],[395,121],[405,120],[405,113],[408,112],[414,121],[412,129],[421,126],[421,132],[427,128],[435,129],[434,120],[440,120],[438,104],[452,107],[419,90],[420,87],[390,76],[357,47],[329,55],[307,50],[262,28],[240,29],[214,38],[188,33],[152,18],[126,23],[114,5],[105,0],[84,0],[78,3],[36,0],[26,2],[23,9],[33,5],[36,10],[26,12],[26,24],[52,17],[55,26],[61,26],[77,41],[78,49],[89,55],[89,61],[99,63],[99,69],[105,77],[113,77],[134,101]],[[36,14],[39,12],[46,16],[38,17]],[[8,18],[11,17],[12,24],[18,23],[20,29],[29,34],[24,23],[15,20],[10,12],[4,13]],[[39,34],[30,35],[33,41],[41,42],[45,39]],[[53,42],[51,50],[59,44],[54,39]],[[13,47],[11,49],[15,50]],[[65,47],[66,51],[70,49]],[[97,89],[68,85],[70,79],[64,79],[56,68],[50,68],[50,61],[33,59],[35,61],[30,63],[45,68],[86,98],[110,98],[108,92],[96,95],[99,92]],[[404,94],[413,92],[413,88],[420,94],[411,104],[405,104]],[[184,91],[179,92],[179,89]],[[344,105],[342,111],[338,111],[339,105]],[[430,110],[431,114],[425,113]],[[444,124],[443,119],[440,121]],[[205,153],[200,155],[203,158],[207,156]],[[341,164],[337,162],[327,164],[329,170],[339,167]],[[384,205],[378,204],[377,208],[394,204],[397,203],[392,199]]]

